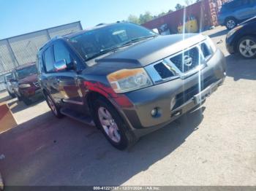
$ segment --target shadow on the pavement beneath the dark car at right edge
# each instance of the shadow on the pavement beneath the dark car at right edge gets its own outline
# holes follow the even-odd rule
[[[256,59],[244,59],[240,55],[227,55],[227,76],[239,79],[256,79]]]

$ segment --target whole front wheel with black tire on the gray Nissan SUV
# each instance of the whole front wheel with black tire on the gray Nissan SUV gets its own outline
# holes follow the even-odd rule
[[[127,149],[137,141],[116,109],[107,100],[99,98],[94,102],[94,115],[97,126],[116,149]]]

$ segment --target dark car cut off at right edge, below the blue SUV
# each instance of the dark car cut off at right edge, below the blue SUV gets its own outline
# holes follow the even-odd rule
[[[226,47],[230,54],[238,52],[244,58],[256,58],[256,17],[229,31]]]

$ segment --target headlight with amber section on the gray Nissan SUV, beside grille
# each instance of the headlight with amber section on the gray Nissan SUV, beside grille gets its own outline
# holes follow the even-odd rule
[[[144,69],[122,69],[109,74],[107,78],[116,93],[125,93],[153,85]]]

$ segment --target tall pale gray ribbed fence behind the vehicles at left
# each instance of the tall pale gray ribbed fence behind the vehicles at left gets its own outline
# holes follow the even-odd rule
[[[47,28],[29,34],[0,40],[0,91],[4,90],[4,75],[15,67],[36,61],[37,50],[54,36],[62,36],[83,30],[80,21]]]

